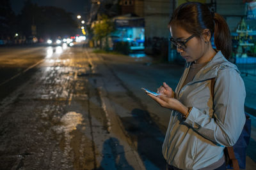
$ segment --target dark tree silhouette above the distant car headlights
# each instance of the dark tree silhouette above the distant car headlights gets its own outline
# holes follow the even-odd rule
[[[31,36],[31,25],[36,25],[36,36],[56,38],[76,34],[77,24],[72,19],[72,13],[54,6],[38,6],[31,1],[25,1],[19,18],[19,28],[22,34]]]

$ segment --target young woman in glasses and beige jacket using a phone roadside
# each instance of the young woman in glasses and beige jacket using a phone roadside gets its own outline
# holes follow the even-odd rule
[[[228,25],[201,3],[180,5],[169,25],[170,41],[186,59],[186,68],[175,92],[163,83],[159,96],[148,94],[172,110],[164,159],[168,169],[225,169],[223,149],[234,145],[241,134],[246,96],[239,70],[227,60]],[[213,35],[216,49],[211,45]]]

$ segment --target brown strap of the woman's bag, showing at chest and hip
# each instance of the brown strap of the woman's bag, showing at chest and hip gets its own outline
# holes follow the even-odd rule
[[[214,99],[214,85],[215,85],[215,77],[211,79],[212,100]],[[228,158],[231,160],[234,170],[239,170],[239,164],[238,164],[238,161],[237,161],[235,153],[234,153],[234,148],[232,146],[226,147],[226,148],[228,151]],[[227,162],[227,160],[226,160],[226,162]]]

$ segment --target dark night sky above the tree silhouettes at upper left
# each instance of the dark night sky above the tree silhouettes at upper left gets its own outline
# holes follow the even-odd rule
[[[11,0],[12,9],[18,14],[22,9],[23,2],[26,0]],[[56,6],[66,11],[74,13],[74,15],[86,15],[90,10],[90,0],[32,0],[38,6]]]

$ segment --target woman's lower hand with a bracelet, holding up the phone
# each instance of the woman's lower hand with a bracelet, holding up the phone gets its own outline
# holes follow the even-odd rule
[[[155,101],[157,101],[157,103],[159,103],[164,108],[177,110],[180,113],[182,113],[182,115],[186,115],[186,113],[188,112],[188,108],[184,106],[182,103],[180,103],[180,101],[178,101],[177,99],[174,99],[173,97],[167,97],[161,94],[159,96],[153,96],[152,94],[147,95]]]

